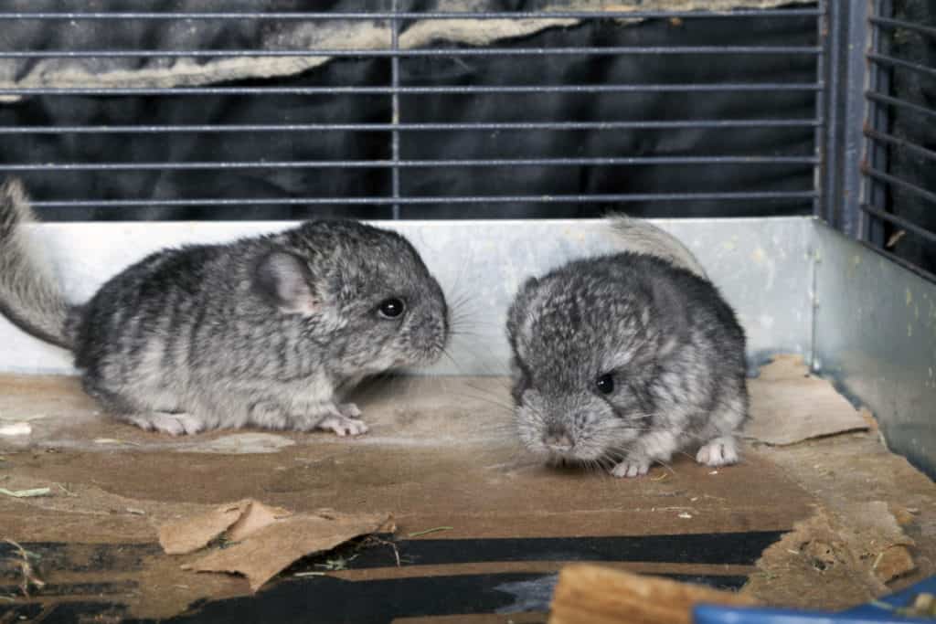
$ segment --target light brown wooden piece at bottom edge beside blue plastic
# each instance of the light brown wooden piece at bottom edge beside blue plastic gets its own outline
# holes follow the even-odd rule
[[[591,564],[563,568],[549,624],[692,624],[696,603],[753,605],[753,599]]]

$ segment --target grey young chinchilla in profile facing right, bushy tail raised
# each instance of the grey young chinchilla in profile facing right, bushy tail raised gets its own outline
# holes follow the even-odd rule
[[[344,391],[437,360],[442,289],[402,236],[312,221],[280,234],[149,255],[72,306],[22,236],[18,181],[0,187],[0,312],[70,350],[86,392],[117,418],[202,429],[367,427]]]

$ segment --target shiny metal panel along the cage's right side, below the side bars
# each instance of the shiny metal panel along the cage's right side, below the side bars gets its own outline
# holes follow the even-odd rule
[[[816,226],[814,368],[867,405],[888,446],[936,476],[936,284]]]

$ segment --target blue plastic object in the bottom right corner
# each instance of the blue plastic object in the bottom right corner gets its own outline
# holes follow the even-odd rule
[[[917,594],[936,594],[936,576],[891,594],[878,602],[862,604],[839,613],[797,611],[792,609],[764,609],[726,607],[700,604],[693,609],[695,624],[936,624],[932,617],[903,617],[893,609],[910,606]],[[885,606],[887,605],[887,606]]]

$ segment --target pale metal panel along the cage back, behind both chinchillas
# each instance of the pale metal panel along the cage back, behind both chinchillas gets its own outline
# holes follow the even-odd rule
[[[811,356],[812,219],[656,221],[698,255],[739,311],[750,354]],[[32,232],[50,254],[74,301],[90,297],[110,275],[167,245],[223,241],[282,229],[287,223],[44,224]],[[607,225],[577,221],[384,222],[423,254],[466,315],[451,353],[435,374],[503,374],[508,361],[507,306],[528,276],[576,257],[615,251]],[[0,370],[71,372],[66,353],[0,319]]]

